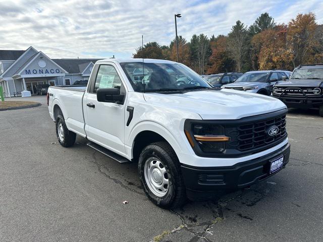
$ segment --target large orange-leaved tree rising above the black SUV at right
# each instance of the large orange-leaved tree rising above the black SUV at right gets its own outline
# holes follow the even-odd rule
[[[298,14],[288,24],[287,48],[294,68],[309,59],[311,51],[319,45],[319,33],[313,13]]]

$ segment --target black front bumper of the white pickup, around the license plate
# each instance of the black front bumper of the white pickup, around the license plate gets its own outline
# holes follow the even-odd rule
[[[186,194],[190,200],[205,200],[217,197],[219,192],[234,191],[248,187],[277,172],[270,174],[270,162],[284,155],[283,168],[289,161],[290,144],[253,160],[232,166],[194,167],[182,164]]]

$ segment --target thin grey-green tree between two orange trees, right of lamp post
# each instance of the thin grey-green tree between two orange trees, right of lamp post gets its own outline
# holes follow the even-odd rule
[[[210,42],[206,35],[194,34],[190,41],[190,66],[199,74],[204,74],[210,56]]]

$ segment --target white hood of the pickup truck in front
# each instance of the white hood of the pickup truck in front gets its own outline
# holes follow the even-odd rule
[[[280,100],[237,90],[191,91],[183,94],[144,93],[159,107],[198,113],[202,119],[239,119],[286,108]]]

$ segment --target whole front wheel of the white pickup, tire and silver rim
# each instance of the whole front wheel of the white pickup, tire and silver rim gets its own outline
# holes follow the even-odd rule
[[[175,208],[186,201],[179,160],[166,142],[146,146],[139,157],[138,172],[147,197],[161,208]]]

